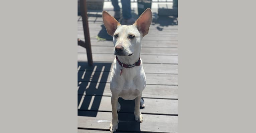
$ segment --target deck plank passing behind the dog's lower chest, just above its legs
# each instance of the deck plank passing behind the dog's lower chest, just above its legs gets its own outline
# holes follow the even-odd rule
[[[111,96],[110,83],[79,81],[78,94]],[[147,84],[142,97],[178,99],[178,86]]]

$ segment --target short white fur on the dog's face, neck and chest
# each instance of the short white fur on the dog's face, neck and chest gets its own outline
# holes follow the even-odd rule
[[[119,37],[113,38],[114,45],[122,45],[126,55],[133,53],[131,56],[118,56],[118,59],[124,64],[134,64],[140,58],[141,39],[140,33],[133,25],[118,26],[114,34]],[[127,35],[132,34],[136,38],[128,39]],[[141,59],[140,59],[141,60]],[[110,76],[110,89],[112,96],[122,97],[125,100],[133,100],[139,96],[146,86],[146,75],[142,67],[142,60],[140,66],[131,68],[123,68],[122,75],[120,75],[121,66],[117,60],[114,60],[113,68]]]

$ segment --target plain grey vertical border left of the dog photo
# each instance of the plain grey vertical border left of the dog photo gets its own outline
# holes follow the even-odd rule
[[[0,132],[77,132],[77,1],[0,2]]]

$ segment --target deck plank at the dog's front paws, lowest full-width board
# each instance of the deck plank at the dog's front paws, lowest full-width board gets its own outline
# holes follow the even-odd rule
[[[118,113],[118,131],[177,133],[178,117],[168,115],[143,114],[143,122],[134,120],[132,113]],[[111,112],[95,112],[78,110],[78,128],[94,128],[108,130]]]

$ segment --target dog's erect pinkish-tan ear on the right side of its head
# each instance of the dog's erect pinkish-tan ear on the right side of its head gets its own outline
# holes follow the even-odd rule
[[[147,8],[140,17],[133,24],[137,27],[139,32],[142,33],[143,37],[148,34],[149,26],[152,22],[152,12],[150,8]]]

